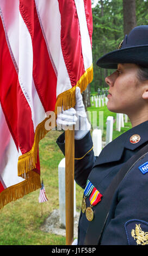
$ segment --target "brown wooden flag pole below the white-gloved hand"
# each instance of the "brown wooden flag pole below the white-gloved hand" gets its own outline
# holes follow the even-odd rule
[[[74,163],[75,130],[65,131],[65,212],[66,212],[66,245],[73,241],[73,197],[74,197]]]

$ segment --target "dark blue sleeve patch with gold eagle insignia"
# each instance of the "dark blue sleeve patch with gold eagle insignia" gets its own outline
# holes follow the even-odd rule
[[[125,223],[128,245],[148,245],[148,223],[130,220]]]

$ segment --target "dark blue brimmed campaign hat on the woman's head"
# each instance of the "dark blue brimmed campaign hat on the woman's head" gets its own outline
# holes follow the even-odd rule
[[[100,68],[117,69],[118,63],[148,67],[148,26],[138,26],[125,35],[117,50],[104,54],[96,62]]]

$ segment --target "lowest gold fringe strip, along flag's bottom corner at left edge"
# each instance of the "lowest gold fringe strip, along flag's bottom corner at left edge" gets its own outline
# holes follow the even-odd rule
[[[26,180],[8,187],[0,193],[0,209],[4,205],[22,198],[26,194],[38,190],[41,187],[40,175],[38,173],[32,170],[26,178]]]

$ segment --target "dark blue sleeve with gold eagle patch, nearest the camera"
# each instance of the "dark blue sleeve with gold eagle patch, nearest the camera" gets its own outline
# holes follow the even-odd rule
[[[116,191],[101,245],[148,244],[148,157],[135,164]],[[143,165],[144,164],[144,165]]]

